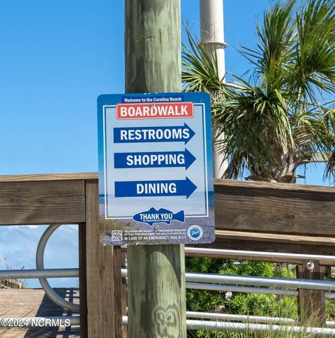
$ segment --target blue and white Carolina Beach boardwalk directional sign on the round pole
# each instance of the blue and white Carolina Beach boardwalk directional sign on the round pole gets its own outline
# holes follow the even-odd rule
[[[99,96],[98,157],[104,245],[214,241],[208,94]]]

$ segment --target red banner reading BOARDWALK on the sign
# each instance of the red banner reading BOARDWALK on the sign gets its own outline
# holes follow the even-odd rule
[[[187,119],[194,116],[192,102],[120,103],[117,119]]]

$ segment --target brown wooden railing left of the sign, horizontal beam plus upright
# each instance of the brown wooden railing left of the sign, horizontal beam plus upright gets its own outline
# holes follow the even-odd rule
[[[81,337],[122,337],[121,249],[100,244],[97,177],[0,176],[0,225],[78,224]]]

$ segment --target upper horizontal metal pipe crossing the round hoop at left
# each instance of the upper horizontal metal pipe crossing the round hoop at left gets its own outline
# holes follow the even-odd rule
[[[0,279],[79,277],[79,269],[1,270]]]

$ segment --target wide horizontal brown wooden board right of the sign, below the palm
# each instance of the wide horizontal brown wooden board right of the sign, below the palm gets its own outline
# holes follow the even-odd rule
[[[332,237],[335,188],[215,180],[216,229]]]

